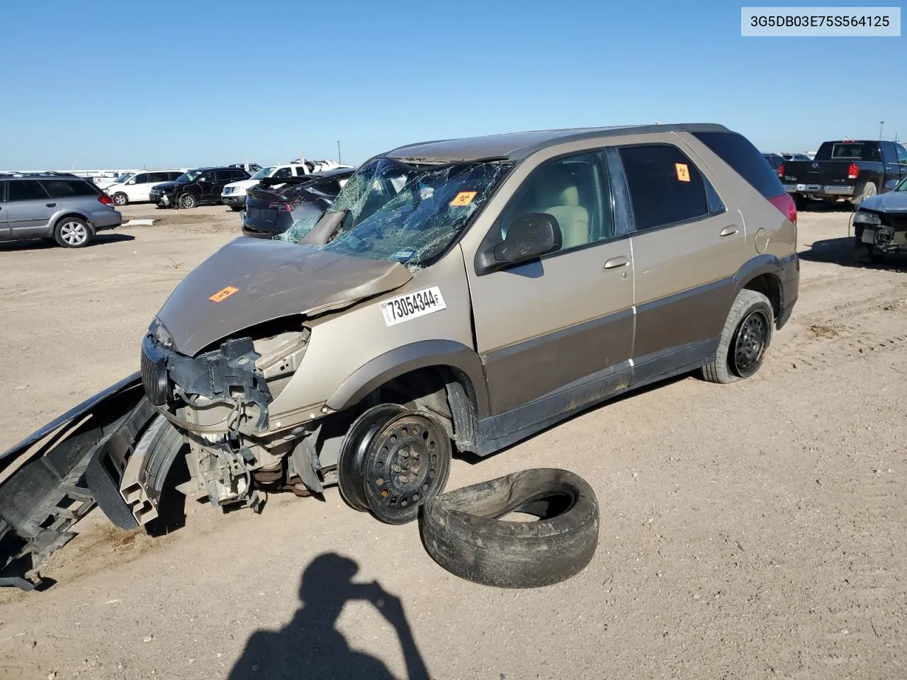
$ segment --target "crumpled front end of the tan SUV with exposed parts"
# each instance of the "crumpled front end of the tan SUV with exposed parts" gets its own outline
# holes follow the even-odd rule
[[[200,355],[168,346],[169,334],[155,321],[141,349],[141,380],[154,408],[189,443],[191,480],[186,494],[203,493],[216,507],[258,510],[258,490],[290,489],[309,495],[287,457],[306,427],[272,423],[268,407],[288,384],[305,355],[309,330],[294,327],[268,334],[233,337]],[[291,430],[291,432],[289,431]],[[137,475],[124,475],[123,497],[142,521],[148,499]]]

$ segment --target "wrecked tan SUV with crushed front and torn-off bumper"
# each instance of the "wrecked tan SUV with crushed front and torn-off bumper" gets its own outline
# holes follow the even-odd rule
[[[59,454],[85,475],[31,497],[50,507],[87,480],[86,503],[144,524],[184,454],[179,490],[215,506],[337,484],[357,510],[414,520],[453,452],[487,455],[671,375],[754,374],[796,302],[795,220],[759,151],[720,125],[388,151],[294,226],[297,243],[237,238],[190,272],[143,340],[141,384],[55,422],[99,423]],[[6,530],[43,526],[16,512],[27,522]]]

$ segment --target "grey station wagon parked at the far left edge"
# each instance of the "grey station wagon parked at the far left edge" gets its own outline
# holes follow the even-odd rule
[[[91,180],[58,172],[0,173],[0,241],[43,238],[82,248],[97,232],[121,223],[113,199]]]

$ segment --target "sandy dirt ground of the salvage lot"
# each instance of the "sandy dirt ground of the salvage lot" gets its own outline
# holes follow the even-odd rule
[[[0,244],[0,450],[136,370],[151,316],[238,230],[220,207],[124,212],[161,224]],[[579,576],[470,584],[336,489],[260,516],[190,500],[161,538],[95,511],[56,585],[0,592],[0,677],[907,677],[907,266],[853,266],[849,214],[801,212],[800,300],[751,380],[671,381],[455,461],[448,488],[590,481]]]

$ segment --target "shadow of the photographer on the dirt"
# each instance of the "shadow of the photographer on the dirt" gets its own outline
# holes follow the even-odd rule
[[[409,680],[427,680],[428,669],[415,646],[403,604],[377,581],[354,583],[359,567],[336,553],[319,555],[308,565],[299,584],[302,607],[278,631],[258,630],[246,644],[229,680],[281,678],[394,678],[385,664],[352,649],[336,629],[340,612],[350,600],[365,600],[394,627]]]

